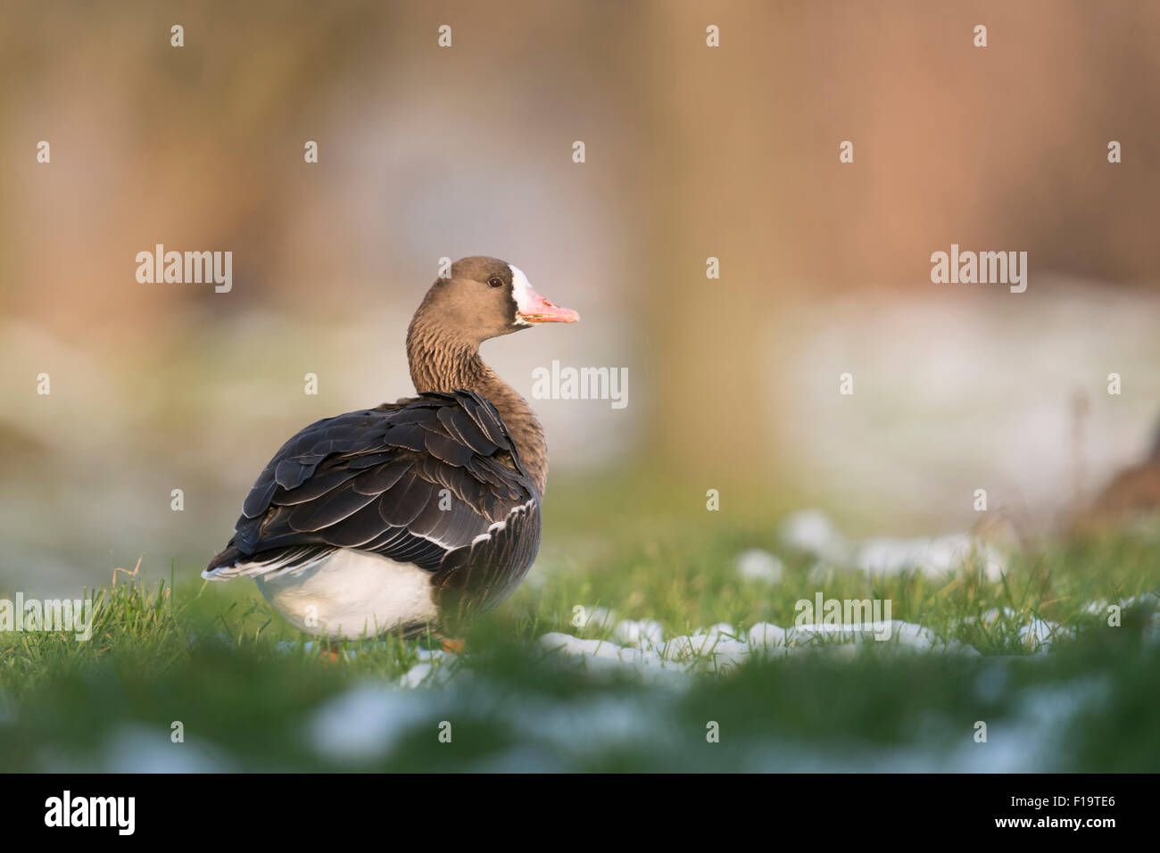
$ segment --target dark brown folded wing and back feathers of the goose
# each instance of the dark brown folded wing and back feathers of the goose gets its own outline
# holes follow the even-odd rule
[[[494,406],[470,391],[425,393],[290,439],[206,574],[293,570],[356,548],[436,573],[466,613],[506,598],[538,547],[538,496]]]

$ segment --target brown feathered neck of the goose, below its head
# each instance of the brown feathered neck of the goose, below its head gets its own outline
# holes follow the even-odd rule
[[[548,486],[544,431],[528,402],[484,363],[478,345],[449,338],[416,315],[407,330],[407,362],[419,393],[463,389],[474,391],[495,406],[515,441],[524,470],[543,497]]]

